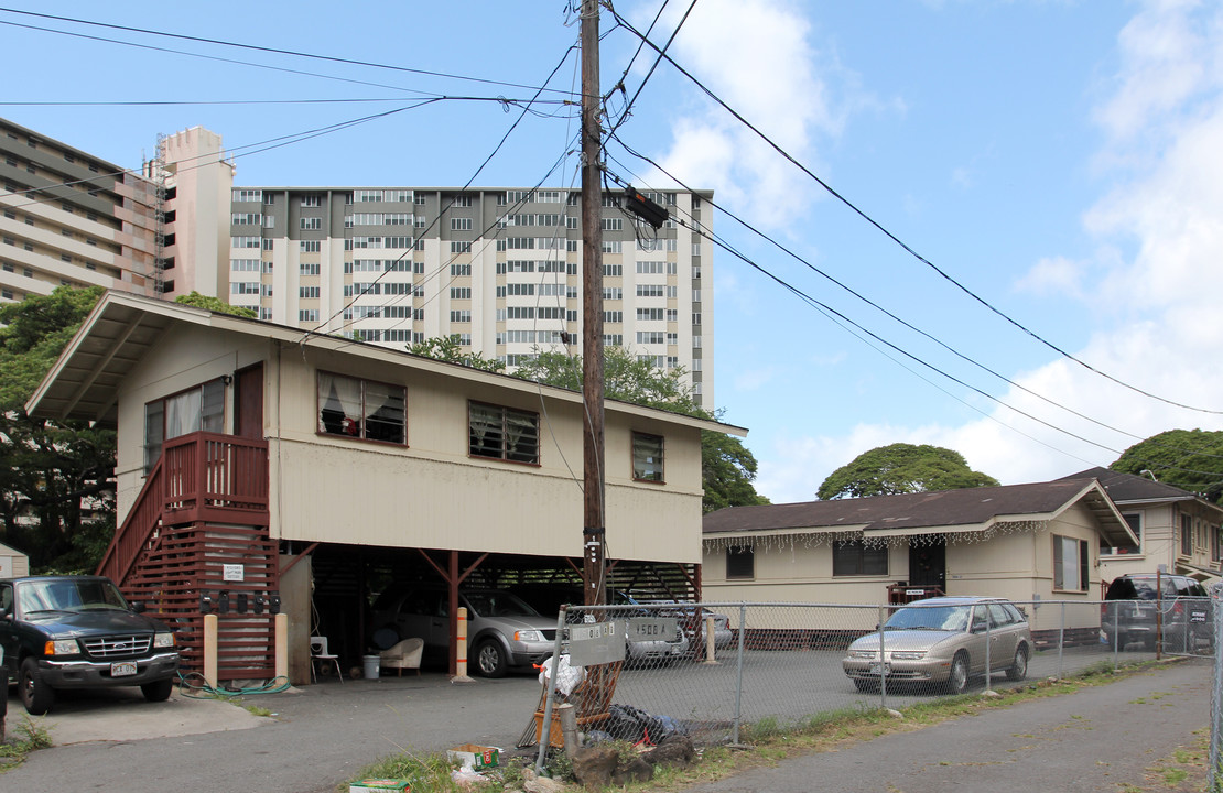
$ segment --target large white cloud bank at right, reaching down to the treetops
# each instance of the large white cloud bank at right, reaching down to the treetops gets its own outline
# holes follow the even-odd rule
[[[1101,176],[1114,188],[1084,216],[1097,252],[1086,261],[1042,259],[1016,287],[1081,298],[1097,329],[1071,353],[1098,371],[1219,411],[1223,11],[1148,2],[1120,34],[1119,49],[1117,90],[1097,114],[1109,136]],[[894,442],[954,448],[974,469],[1014,484],[1107,466],[1163,430],[1223,429],[1223,417],[1142,396],[1065,358],[1014,379],[1081,415],[1014,387],[1000,400],[1079,437],[1002,407],[959,426],[863,424],[844,436],[779,441],[761,455],[758,489],[774,501],[810,500],[837,467]]]

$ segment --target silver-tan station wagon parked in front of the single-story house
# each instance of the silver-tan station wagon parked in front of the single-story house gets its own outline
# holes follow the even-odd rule
[[[1010,601],[931,597],[898,608],[882,632],[856,639],[841,667],[861,692],[878,689],[885,674],[889,687],[929,684],[960,694],[970,678],[986,674],[987,645],[989,673],[1005,672],[1013,681],[1027,676],[1032,632]]]

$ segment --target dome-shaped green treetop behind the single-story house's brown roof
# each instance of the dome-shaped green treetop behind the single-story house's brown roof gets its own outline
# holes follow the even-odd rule
[[[970,469],[964,456],[950,448],[893,444],[862,452],[834,470],[816,496],[827,501],[997,484],[993,477]]]

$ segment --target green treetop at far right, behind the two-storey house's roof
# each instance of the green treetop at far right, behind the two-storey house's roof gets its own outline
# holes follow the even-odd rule
[[[1109,469],[1175,485],[1219,503],[1223,499],[1223,431],[1167,430],[1130,446]]]

